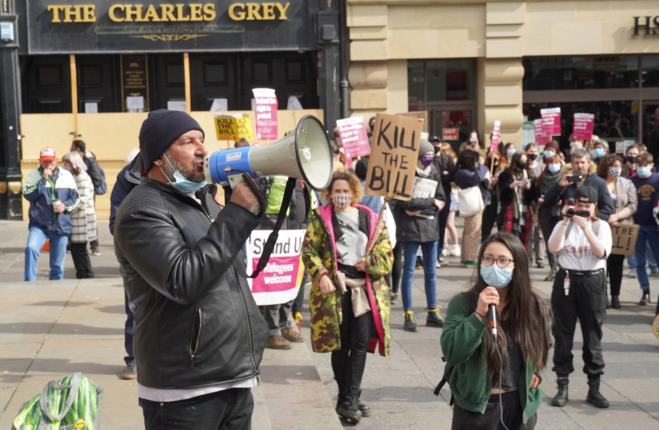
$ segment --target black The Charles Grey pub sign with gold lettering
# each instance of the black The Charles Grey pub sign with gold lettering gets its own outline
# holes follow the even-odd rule
[[[27,2],[30,53],[313,49],[312,1]]]

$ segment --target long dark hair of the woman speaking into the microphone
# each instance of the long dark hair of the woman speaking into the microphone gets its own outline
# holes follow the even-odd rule
[[[467,291],[467,306],[470,311],[476,310],[478,295],[487,287],[485,280],[480,275],[483,252],[490,243],[495,242],[502,243],[508,248],[513,255],[515,267],[513,280],[507,287],[507,304],[501,313],[503,324],[498,332],[502,361],[500,361],[495,344],[492,342],[492,333],[489,330],[485,330],[483,333],[483,344],[486,351],[485,368],[493,382],[500,380],[501,363],[508,363],[506,353],[508,338],[514,339],[520,347],[524,366],[527,359],[531,359],[535,373],[544,369],[549,354],[550,329],[546,306],[535,294],[531,285],[527,250],[524,249],[520,239],[507,232],[496,232],[485,239],[481,245],[481,250],[478,252],[474,286]],[[503,372],[505,372],[505,368],[503,368]]]

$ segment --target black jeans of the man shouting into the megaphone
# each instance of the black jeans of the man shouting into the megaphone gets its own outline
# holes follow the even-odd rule
[[[249,388],[232,388],[176,402],[139,399],[146,430],[251,429],[254,399]]]

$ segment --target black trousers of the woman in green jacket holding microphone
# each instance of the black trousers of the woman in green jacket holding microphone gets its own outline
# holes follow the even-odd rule
[[[453,422],[451,430],[499,430],[504,427],[501,425],[501,409],[503,408],[503,422],[510,430],[533,430],[535,429],[535,422],[537,414],[533,414],[527,425],[524,426],[522,422],[522,406],[520,405],[519,392],[513,391],[501,394],[501,403],[499,403],[499,395],[492,394],[485,412],[472,412],[462,409],[457,403],[453,405]]]

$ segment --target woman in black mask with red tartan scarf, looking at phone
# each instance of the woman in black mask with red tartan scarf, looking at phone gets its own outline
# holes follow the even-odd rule
[[[531,202],[535,200],[535,180],[527,170],[527,154],[516,152],[510,164],[499,175],[500,230],[520,238],[529,249],[529,236],[533,229]]]

